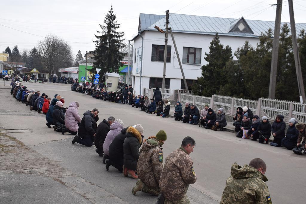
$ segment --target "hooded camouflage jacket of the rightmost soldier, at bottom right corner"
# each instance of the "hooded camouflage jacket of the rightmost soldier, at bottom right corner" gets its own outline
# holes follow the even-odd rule
[[[267,177],[253,167],[244,164],[239,166],[236,162],[231,167],[230,178],[222,194],[220,204],[271,204],[269,189],[265,183]]]

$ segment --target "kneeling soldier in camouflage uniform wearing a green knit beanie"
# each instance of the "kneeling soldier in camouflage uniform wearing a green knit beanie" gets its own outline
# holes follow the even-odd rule
[[[144,141],[140,149],[140,156],[137,163],[138,180],[133,187],[132,193],[136,195],[137,191],[159,195],[159,179],[162,174],[162,145],[167,139],[166,132],[160,130],[156,137],[149,137]]]

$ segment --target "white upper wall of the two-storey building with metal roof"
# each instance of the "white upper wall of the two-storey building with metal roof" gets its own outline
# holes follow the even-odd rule
[[[142,76],[143,77],[162,77],[163,73],[163,62],[152,62],[151,61],[151,51],[152,51],[152,44],[157,45],[164,45],[164,34],[158,31],[145,31],[142,33],[144,37],[144,47],[143,47],[143,61],[142,61]],[[184,74],[186,79],[197,79],[197,77],[201,76],[201,66],[207,64],[204,60],[205,52],[209,53],[209,46],[214,38],[214,35],[203,35],[203,34],[188,34],[188,33],[175,33],[174,38],[177,44],[177,50],[179,56],[182,61],[182,52],[183,47],[197,47],[202,48],[201,53],[201,64],[200,65],[192,65],[192,64],[184,64],[182,63]],[[134,51],[136,48],[136,55],[137,51],[139,50],[139,54],[141,53],[141,37],[138,37],[134,40]],[[235,36],[219,36],[220,43],[224,45],[229,45],[232,48],[233,53],[237,50],[238,47],[242,47],[246,40],[249,43],[256,47],[256,44],[259,42],[259,38],[251,38],[251,37],[235,37]],[[168,45],[171,45],[171,62],[166,63],[166,78],[171,79],[182,79],[181,70],[179,67],[179,63],[177,61],[177,56],[175,53],[175,49],[173,46],[173,42],[171,36],[169,35]],[[133,56],[133,62],[134,62]],[[235,57],[234,57],[235,59]],[[136,64],[134,62],[132,74],[135,76],[140,76],[140,74],[136,74]],[[172,84],[172,82],[174,84]],[[136,85],[138,84],[138,85]],[[149,85],[144,84],[145,88],[148,88]],[[135,86],[139,86],[135,80]],[[170,81],[170,88],[171,89],[180,89],[181,88],[181,81],[179,80],[171,80]]]

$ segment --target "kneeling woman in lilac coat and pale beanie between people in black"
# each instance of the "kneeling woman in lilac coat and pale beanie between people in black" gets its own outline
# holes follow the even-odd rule
[[[113,142],[114,138],[121,132],[124,127],[122,120],[117,119],[110,125],[110,131],[107,133],[105,141],[103,143],[104,155],[109,156],[110,144]],[[106,158],[108,159],[108,158]]]

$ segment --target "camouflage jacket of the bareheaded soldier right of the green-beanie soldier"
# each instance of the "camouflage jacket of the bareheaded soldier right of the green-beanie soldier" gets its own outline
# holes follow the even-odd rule
[[[170,153],[166,158],[159,187],[167,199],[182,199],[189,184],[196,182],[196,174],[193,171],[192,163],[190,156],[182,147]]]

